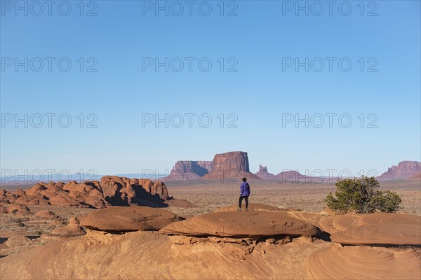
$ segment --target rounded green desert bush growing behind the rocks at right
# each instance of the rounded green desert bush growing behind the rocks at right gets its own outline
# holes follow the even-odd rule
[[[401,197],[389,190],[378,190],[380,185],[374,177],[343,179],[336,182],[335,186],[335,196],[330,192],[325,202],[337,214],[345,214],[347,211],[392,213],[401,209]]]

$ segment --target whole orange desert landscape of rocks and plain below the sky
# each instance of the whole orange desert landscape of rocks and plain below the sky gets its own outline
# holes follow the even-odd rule
[[[251,174],[243,152],[199,164],[205,172],[173,169],[177,179],[155,182],[7,185],[1,279],[420,279],[419,163],[380,178],[401,197],[399,211],[342,215],[326,207],[335,182],[260,179],[265,170]],[[250,204],[237,211],[243,176]]]

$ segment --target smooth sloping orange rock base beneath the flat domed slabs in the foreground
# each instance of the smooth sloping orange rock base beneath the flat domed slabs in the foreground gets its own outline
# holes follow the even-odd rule
[[[88,232],[0,258],[1,279],[305,279],[305,260],[326,244],[208,241],[174,244],[154,232]]]

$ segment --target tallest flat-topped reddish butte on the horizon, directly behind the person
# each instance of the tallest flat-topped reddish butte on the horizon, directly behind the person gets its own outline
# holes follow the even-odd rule
[[[246,177],[247,179],[260,179],[259,176],[250,172],[248,155],[246,152],[228,152],[213,157],[213,172],[204,179],[223,179],[224,181],[236,180]]]

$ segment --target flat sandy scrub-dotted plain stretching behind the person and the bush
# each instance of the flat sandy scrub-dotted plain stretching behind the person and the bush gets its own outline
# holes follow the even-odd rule
[[[324,199],[329,192],[335,192],[334,183],[285,183],[281,181],[250,181],[249,202],[270,204],[283,209],[321,211],[326,208]],[[168,183],[168,193],[175,198],[185,199],[199,206],[193,209],[170,207],[180,216],[195,216],[208,213],[219,207],[236,204],[239,200],[238,183]],[[401,212],[421,216],[420,181],[381,182],[380,190],[392,190],[402,199]],[[243,201],[243,205],[244,205]]]

